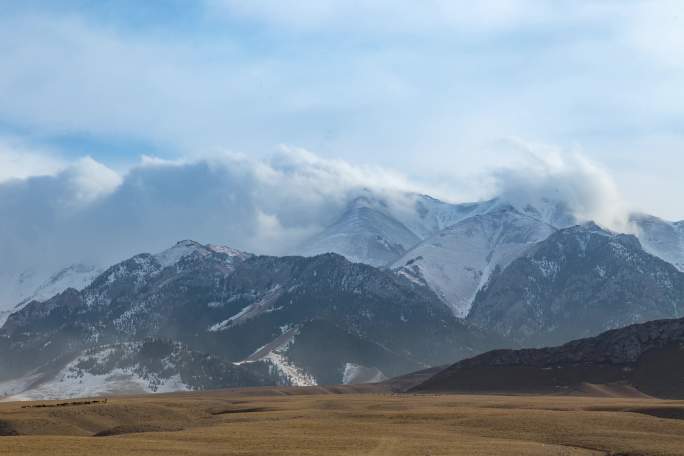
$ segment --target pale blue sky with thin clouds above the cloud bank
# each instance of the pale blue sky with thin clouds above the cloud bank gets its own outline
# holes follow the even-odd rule
[[[605,170],[631,207],[684,218],[677,0],[0,10],[0,154],[26,162],[18,177],[86,155],[124,173],[141,155],[260,158],[285,144],[476,198],[492,169],[551,150]]]

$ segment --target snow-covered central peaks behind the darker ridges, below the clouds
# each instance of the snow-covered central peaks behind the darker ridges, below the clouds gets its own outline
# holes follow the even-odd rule
[[[455,316],[465,317],[496,266],[506,266],[530,244],[574,223],[565,204],[545,198],[534,205],[500,198],[449,204],[407,194],[390,203],[367,192],[301,251],[334,252],[395,269],[427,285]]]

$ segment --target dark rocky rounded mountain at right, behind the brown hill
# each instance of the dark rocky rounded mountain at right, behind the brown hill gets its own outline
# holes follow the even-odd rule
[[[561,343],[684,313],[684,274],[631,235],[560,230],[495,273],[468,320],[511,340]]]

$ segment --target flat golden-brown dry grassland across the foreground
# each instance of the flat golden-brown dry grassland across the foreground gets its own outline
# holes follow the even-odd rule
[[[682,401],[344,392],[245,389],[3,403],[0,454],[684,454]]]

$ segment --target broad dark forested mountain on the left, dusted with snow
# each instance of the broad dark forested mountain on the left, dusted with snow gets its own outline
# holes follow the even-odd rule
[[[88,350],[149,338],[239,366],[266,363],[292,384],[380,379],[496,345],[390,271],[335,254],[256,257],[185,241],[12,314],[0,329],[0,380],[47,365],[60,372]]]

